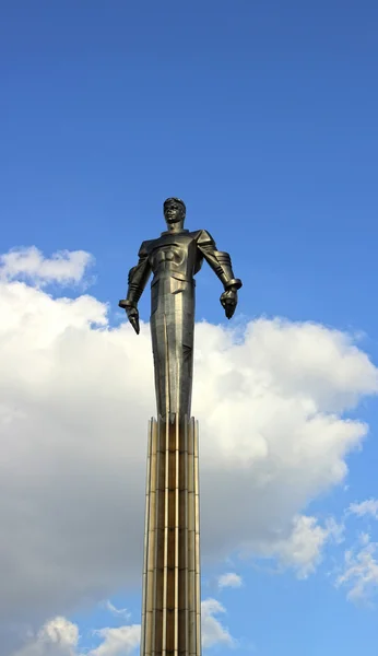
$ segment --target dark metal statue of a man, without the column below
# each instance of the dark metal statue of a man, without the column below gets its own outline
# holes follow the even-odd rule
[[[224,286],[221,303],[226,317],[232,318],[237,305],[241,281],[234,277],[228,253],[216,249],[205,230],[184,229],[186,207],[178,198],[164,202],[167,231],[156,239],[143,242],[139,262],[130,269],[128,293],[119,306],[139,333],[138,302],[151,271],[151,335],[155,368],[157,417],[174,421],[190,418],[193,330],[194,274],[203,259]]]

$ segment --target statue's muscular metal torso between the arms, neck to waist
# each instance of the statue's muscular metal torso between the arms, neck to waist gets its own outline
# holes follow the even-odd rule
[[[154,280],[172,277],[192,281],[200,270],[203,256],[197,246],[201,231],[163,233],[157,239],[145,242]]]

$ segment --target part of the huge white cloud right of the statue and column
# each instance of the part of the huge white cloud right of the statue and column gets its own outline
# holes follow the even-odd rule
[[[209,541],[229,552],[237,535],[245,549],[282,548],[286,558],[285,539],[297,535],[293,518],[344,480],[345,457],[367,433],[341,413],[376,393],[377,370],[350,336],[312,324],[258,319],[238,343],[221,327],[200,324],[197,332]],[[321,535],[316,528],[323,542]]]

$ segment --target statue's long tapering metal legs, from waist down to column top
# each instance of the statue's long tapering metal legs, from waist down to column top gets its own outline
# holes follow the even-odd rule
[[[151,333],[157,413],[163,418],[190,417],[193,329],[193,283],[157,281],[152,288]]]

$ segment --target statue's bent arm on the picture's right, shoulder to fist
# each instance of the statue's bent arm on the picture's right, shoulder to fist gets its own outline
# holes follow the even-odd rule
[[[227,319],[231,319],[237,306],[237,290],[241,288],[241,280],[234,276],[228,253],[217,250],[216,244],[208,231],[201,231],[197,239],[197,245],[224,286],[221,303],[225,309]]]

